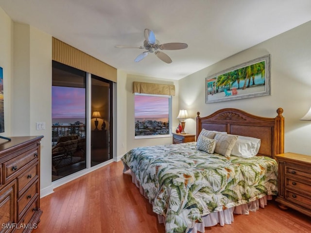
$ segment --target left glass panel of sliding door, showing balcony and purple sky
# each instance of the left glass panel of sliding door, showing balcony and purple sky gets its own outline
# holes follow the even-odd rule
[[[86,72],[52,63],[52,181],[86,168]]]

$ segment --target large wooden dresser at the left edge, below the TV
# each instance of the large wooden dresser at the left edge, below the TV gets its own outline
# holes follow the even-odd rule
[[[31,232],[40,221],[40,140],[0,139],[0,232]]]

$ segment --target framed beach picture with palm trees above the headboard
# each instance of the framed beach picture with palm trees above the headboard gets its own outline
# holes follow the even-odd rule
[[[211,75],[205,86],[206,103],[270,95],[270,54]]]

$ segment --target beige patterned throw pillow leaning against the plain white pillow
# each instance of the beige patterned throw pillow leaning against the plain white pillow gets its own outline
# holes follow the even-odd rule
[[[235,143],[237,142],[238,136],[216,133],[215,139],[216,139],[215,152],[218,154],[222,154],[225,157],[230,157],[231,150],[234,147]]]

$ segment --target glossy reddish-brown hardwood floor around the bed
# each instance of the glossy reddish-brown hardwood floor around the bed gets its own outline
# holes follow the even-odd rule
[[[40,201],[43,214],[33,233],[165,233],[152,206],[123,165],[114,162],[60,186]],[[275,201],[248,216],[235,215],[231,225],[205,233],[310,233],[311,218],[282,211]]]

